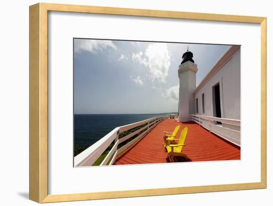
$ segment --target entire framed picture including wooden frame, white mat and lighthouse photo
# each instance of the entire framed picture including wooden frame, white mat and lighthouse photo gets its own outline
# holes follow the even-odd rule
[[[31,5],[29,152],[38,203],[266,188],[266,17]]]

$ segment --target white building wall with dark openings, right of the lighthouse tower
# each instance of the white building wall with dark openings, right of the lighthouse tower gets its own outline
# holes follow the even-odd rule
[[[219,69],[202,87],[197,88],[195,99],[198,98],[198,115],[213,117],[212,87],[220,84],[221,117],[240,119],[240,49]],[[205,93],[205,113],[202,111],[202,94]],[[196,102],[196,101],[195,101]]]

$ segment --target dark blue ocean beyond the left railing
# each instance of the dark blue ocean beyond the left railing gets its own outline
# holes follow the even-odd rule
[[[74,114],[74,145],[90,146],[116,127],[157,116],[162,114]]]

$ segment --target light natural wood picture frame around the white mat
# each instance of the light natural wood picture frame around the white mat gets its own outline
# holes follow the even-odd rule
[[[194,187],[158,188],[133,191],[111,191],[48,195],[48,12],[67,11],[95,14],[163,17],[192,20],[256,23],[261,26],[261,182],[209,185]],[[29,199],[37,203],[97,200],[203,193],[216,191],[263,189],[267,185],[266,169],[266,17],[191,13],[163,10],[99,7],[37,3],[30,6],[30,136],[29,136]]]

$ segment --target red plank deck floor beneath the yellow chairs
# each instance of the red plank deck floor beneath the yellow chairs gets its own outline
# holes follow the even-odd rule
[[[172,132],[177,125],[182,129],[188,127],[188,135],[182,152],[188,155],[188,161],[215,161],[240,159],[240,147],[233,145],[209,133],[196,123],[180,123],[166,119],[159,123],[133,147],[121,154],[115,164],[147,164],[169,162],[166,149],[163,147],[163,131]]]

